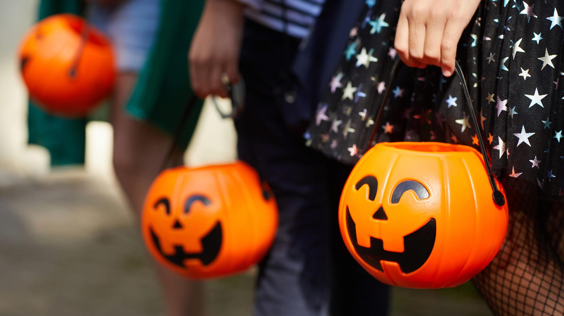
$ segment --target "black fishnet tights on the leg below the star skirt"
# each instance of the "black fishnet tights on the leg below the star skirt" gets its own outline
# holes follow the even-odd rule
[[[508,189],[505,242],[474,284],[497,316],[563,316],[564,203]]]

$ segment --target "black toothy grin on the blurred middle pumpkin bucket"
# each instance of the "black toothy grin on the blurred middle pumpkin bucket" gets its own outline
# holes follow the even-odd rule
[[[158,253],[160,253],[166,260],[170,263],[177,265],[181,268],[186,268],[184,265],[184,260],[186,259],[200,259],[203,265],[209,265],[215,260],[219,255],[219,250],[221,249],[221,242],[223,239],[223,229],[221,227],[221,222],[217,222],[213,229],[210,230],[202,239],[202,248],[204,251],[200,253],[186,253],[182,245],[174,245],[174,254],[167,255],[162,252],[161,243],[158,236],[153,232],[152,228],[149,228],[151,232],[151,238],[155,248],[157,248]]]

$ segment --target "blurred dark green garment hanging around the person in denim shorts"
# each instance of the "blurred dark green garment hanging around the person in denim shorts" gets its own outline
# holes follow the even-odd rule
[[[174,135],[188,101],[193,96],[188,77],[188,48],[200,19],[204,0],[161,0],[157,35],[126,111]],[[83,0],[41,0],[39,19],[69,12],[82,15]],[[203,101],[191,110],[178,144],[186,148],[200,115]],[[29,104],[30,144],[45,146],[51,165],[82,164],[85,158],[86,123],[105,119],[104,109],[89,118],[65,119]]]

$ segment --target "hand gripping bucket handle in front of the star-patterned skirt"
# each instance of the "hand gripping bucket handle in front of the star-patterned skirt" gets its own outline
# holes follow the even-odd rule
[[[406,65],[436,65],[450,77],[456,46],[481,0],[405,0],[395,34],[395,49]]]

